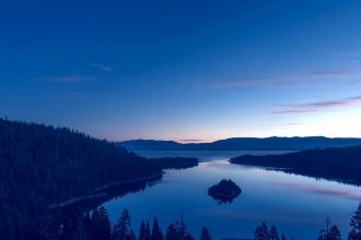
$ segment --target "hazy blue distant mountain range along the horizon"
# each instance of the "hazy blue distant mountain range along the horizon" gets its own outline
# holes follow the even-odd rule
[[[182,144],[174,141],[131,140],[117,143],[129,151],[302,151],[361,145],[361,139],[305,137],[233,137],[211,143]]]

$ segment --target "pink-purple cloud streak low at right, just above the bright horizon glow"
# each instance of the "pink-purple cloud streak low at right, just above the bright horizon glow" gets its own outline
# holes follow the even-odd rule
[[[340,108],[347,107],[351,105],[361,104],[361,95],[335,99],[335,100],[324,100],[324,101],[312,101],[305,104],[295,104],[295,105],[288,105],[284,106],[283,109],[275,110],[271,113],[273,115],[284,115],[284,113],[308,113],[325,110],[328,108]]]

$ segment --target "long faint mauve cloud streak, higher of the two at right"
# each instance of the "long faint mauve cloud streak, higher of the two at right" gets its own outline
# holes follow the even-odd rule
[[[290,85],[298,83],[300,80],[361,80],[361,73],[351,70],[335,70],[335,71],[311,71],[299,72],[291,74],[269,75],[261,77],[241,77],[236,80],[220,81],[211,83],[211,87],[226,88],[246,85]],[[302,82],[304,84],[305,82]],[[312,82],[314,84],[314,82]]]

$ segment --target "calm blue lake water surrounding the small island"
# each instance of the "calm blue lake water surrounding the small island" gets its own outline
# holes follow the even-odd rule
[[[183,211],[196,239],[202,226],[216,240],[252,238],[261,221],[275,224],[288,239],[316,239],[327,216],[339,227],[342,238],[347,237],[349,218],[361,201],[361,188],[228,163],[230,157],[246,153],[270,152],[139,152],[143,156],[195,156],[202,163],[190,169],[168,170],[145,191],[104,205],[112,220],[128,208],[136,231],[142,219],[152,221],[154,216],[165,231]],[[231,204],[218,205],[207,190],[222,178],[231,178],[243,192]]]

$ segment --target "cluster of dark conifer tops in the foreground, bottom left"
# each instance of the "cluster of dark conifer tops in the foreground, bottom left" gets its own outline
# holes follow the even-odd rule
[[[74,213],[74,212],[73,212]],[[54,223],[45,235],[45,239],[53,240],[195,240],[188,232],[187,226],[179,220],[167,226],[165,231],[154,217],[152,225],[142,220],[139,230],[131,228],[128,209],[124,209],[120,217],[112,227],[107,211],[102,206],[86,214],[68,215],[66,220]],[[211,240],[207,228],[202,228],[200,240]]]

